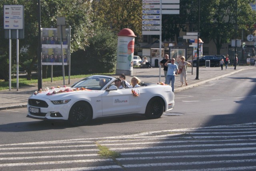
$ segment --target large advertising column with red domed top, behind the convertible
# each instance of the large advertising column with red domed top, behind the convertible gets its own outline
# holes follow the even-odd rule
[[[124,28],[118,33],[116,75],[132,76],[135,37],[129,28]]]

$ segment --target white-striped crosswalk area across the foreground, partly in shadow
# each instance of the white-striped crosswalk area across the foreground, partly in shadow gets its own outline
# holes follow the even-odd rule
[[[98,144],[120,157],[102,157]],[[256,123],[0,144],[0,170],[256,170]]]

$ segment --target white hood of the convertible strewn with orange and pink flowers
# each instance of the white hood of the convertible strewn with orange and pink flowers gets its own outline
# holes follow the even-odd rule
[[[73,95],[76,93],[92,93],[101,90],[90,90],[85,88],[75,88],[75,87],[60,87],[60,88],[46,88],[40,89],[39,91],[35,91],[29,98],[37,99],[37,98],[46,98],[46,99],[62,99],[62,97],[66,97],[69,95]]]

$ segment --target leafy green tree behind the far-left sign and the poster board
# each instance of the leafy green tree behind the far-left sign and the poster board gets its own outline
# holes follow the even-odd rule
[[[24,58],[21,56],[20,65],[24,67],[25,61],[30,61],[30,71],[28,72],[28,80],[31,79],[31,70],[36,63],[38,56],[38,1],[27,0],[4,0],[0,2],[0,6],[24,5],[24,39],[20,40],[20,49],[24,49]],[[81,0],[41,0],[41,26],[42,28],[50,28],[56,26],[57,16],[64,16],[66,27],[71,26],[71,51],[85,49],[88,46],[88,39],[94,35],[92,30],[92,8],[91,1]],[[79,8],[78,8],[79,7]],[[3,29],[3,8],[0,8],[0,34],[4,35]],[[14,44],[14,43],[13,43]],[[0,36],[0,47],[2,51],[8,52],[8,40]],[[14,50],[15,48],[12,48]],[[12,54],[15,54],[12,52]],[[15,59],[14,56],[12,58]],[[26,67],[26,66],[25,66]]]

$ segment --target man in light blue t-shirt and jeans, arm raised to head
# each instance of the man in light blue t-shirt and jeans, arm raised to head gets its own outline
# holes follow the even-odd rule
[[[169,63],[171,61],[171,63]],[[168,60],[164,65],[168,67],[166,79],[167,79],[167,84],[170,85],[170,82],[172,82],[172,92],[174,92],[174,82],[175,82],[175,76],[177,75],[179,69],[176,64],[174,64],[175,59],[172,58],[171,60]]]

